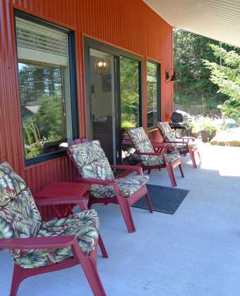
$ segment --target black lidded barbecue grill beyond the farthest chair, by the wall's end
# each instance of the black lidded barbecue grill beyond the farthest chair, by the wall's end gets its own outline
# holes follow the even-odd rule
[[[185,136],[185,133],[189,137],[189,133],[190,133],[189,123],[191,123],[191,120],[192,120],[190,114],[181,110],[176,110],[172,113],[171,120],[172,120],[172,123],[170,123],[170,126],[175,130],[175,135],[176,135],[176,130],[181,130],[183,137]]]

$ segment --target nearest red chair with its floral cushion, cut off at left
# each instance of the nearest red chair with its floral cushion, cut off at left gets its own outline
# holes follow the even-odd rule
[[[2,193],[0,196],[0,222],[1,227],[4,226],[4,231],[0,231],[0,249],[9,249],[15,261],[10,296],[17,295],[18,287],[25,278],[66,269],[77,264],[81,264],[92,293],[97,296],[106,295],[97,272],[96,262],[98,242],[101,242],[102,245],[103,242],[100,236],[98,240],[90,236],[94,229],[97,233],[97,228],[95,228],[97,214],[95,211],[83,211],[75,214],[76,216],[71,215],[60,220],[56,218],[45,223],[42,221],[32,194],[23,179],[14,173],[11,166],[6,163],[0,164],[0,171],[0,190]],[[4,192],[5,194],[3,194]],[[50,200],[38,199],[37,202],[41,206],[47,206]],[[55,197],[53,204],[66,204],[66,199]],[[78,199],[71,199],[71,204],[78,204]],[[22,208],[24,208],[23,211],[20,211]],[[81,220],[82,218],[83,220]],[[69,226],[68,219],[72,219]],[[89,222],[86,219],[89,219]],[[87,235],[89,237],[85,242],[87,244],[91,242],[89,247],[91,251],[88,252],[83,245],[80,246],[79,239],[84,239],[81,238],[80,233],[79,235],[64,235],[65,226],[62,229],[62,235],[55,235],[56,229],[61,232],[61,226],[58,228],[60,221],[61,225],[66,223],[67,228],[73,228],[73,231],[69,230],[71,233],[74,233],[74,229],[76,229],[76,233],[78,233],[78,229],[83,231],[83,227],[88,225],[88,229],[84,228],[86,230],[85,237]],[[76,228],[76,224],[73,226],[73,221],[80,223],[78,228]],[[49,226],[48,223],[52,223],[51,225],[54,226],[55,230],[49,230],[51,225]],[[20,224],[23,224],[23,226]],[[3,229],[1,228],[1,230]],[[47,235],[44,236],[47,231]],[[50,235],[51,231],[52,235]],[[88,249],[88,245],[85,246]],[[85,252],[83,252],[83,249]],[[35,250],[37,251],[35,252]],[[50,260],[50,258],[55,258],[55,254],[56,259]],[[71,256],[68,257],[68,254],[71,254]],[[102,255],[107,258],[105,249]],[[28,256],[30,256],[30,259],[28,259]],[[62,259],[63,256],[65,259]]]

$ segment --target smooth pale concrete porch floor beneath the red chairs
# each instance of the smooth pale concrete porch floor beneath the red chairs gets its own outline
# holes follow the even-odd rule
[[[118,206],[95,206],[109,259],[98,258],[111,296],[240,295],[240,148],[201,147],[193,169],[182,158],[190,190],[174,215],[133,208],[136,233],[128,234]],[[170,186],[166,170],[152,171],[150,184]],[[8,295],[13,261],[0,252],[0,295]],[[80,266],[24,280],[19,296],[92,295]]]

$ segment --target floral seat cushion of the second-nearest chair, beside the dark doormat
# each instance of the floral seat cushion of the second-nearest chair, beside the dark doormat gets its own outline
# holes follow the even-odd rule
[[[119,185],[121,194],[124,197],[129,197],[148,182],[148,175],[128,175],[125,178],[116,178],[115,180]],[[90,193],[97,198],[116,196],[112,186],[92,185]]]

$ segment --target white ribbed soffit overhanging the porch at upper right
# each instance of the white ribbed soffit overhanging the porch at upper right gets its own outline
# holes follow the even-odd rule
[[[240,47],[240,0],[143,0],[172,25]]]

